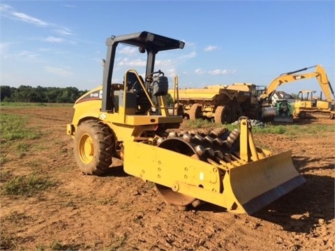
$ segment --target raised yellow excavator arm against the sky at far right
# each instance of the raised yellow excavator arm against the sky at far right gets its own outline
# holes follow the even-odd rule
[[[313,67],[315,67],[315,72],[313,73],[295,74],[303,70],[308,70]],[[320,65],[316,65],[316,66],[311,66],[308,68],[303,68],[300,70],[295,70],[290,73],[283,73],[279,77],[276,77],[267,86],[267,89],[265,90],[265,92],[262,93],[262,95],[260,96],[260,102],[271,100],[271,97],[274,95],[274,92],[276,91],[276,89],[282,84],[287,84],[287,83],[295,82],[295,81],[302,80],[302,79],[311,79],[313,77],[316,77],[316,79],[318,79],[322,92],[325,93],[326,100],[329,102],[332,101],[331,93],[333,97],[335,98],[334,91],[332,89],[332,85],[329,82],[325,69]]]

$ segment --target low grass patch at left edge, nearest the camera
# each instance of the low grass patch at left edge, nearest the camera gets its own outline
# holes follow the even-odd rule
[[[55,185],[57,185],[55,181],[36,176],[36,174],[16,176],[3,183],[2,193],[3,195],[32,197],[44,190],[54,187]]]

